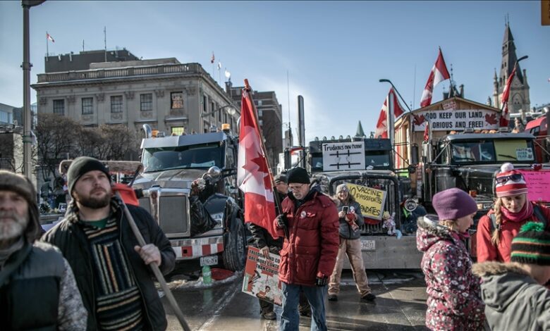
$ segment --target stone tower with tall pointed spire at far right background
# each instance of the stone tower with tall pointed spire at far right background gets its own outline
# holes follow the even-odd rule
[[[525,55],[525,54],[523,54]],[[522,56],[523,56],[522,55]],[[512,31],[510,30],[510,23],[506,23],[506,29],[504,30],[504,39],[502,42],[502,63],[500,75],[497,77],[496,70],[493,77],[493,103],[490,106],[495,108],[502,108],[501,98],[504,87],[506,87],[506,80],[510,77],[515,65],[515,61],[518,60],[518,56],[515,54],[514,38]],[[521,70],[520,64],[515,71],[515,76],[512,80],[510,89],[510,96],[508,99],[508,109],[510,113],[519,113],[521,111],[529,111],[531,101],[529,99],[529,84],[527,84],[527,72],[525,69]]]

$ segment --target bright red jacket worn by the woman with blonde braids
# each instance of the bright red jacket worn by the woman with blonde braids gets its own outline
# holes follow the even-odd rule
[[[533,204],[533,206],[535,205],[534,202],[531,202],[531,204]],[[542,215],[544,215],[544,217],[546,218],[546,230],[550,231],[550,208],[543,205],[538,205],[537,208],[541,209]],[[493,242],[491,242],[491,236],[493,234],[491,232],[491,218],[489,218],[489,215],[493,213],[494,211],[489,211],[489,213],[480,218],[479,223],[477,223],[477,261],[510,262],[512,239],[513,237],[515,237],[515,235],[518,234],[518,232],[520,232],[520,227],[522,227],[522,225],[527,223],[527,221],[529,220],[539,222],[542,220],[537,220],[537,216],[535,216],[535,214],[533,213],[532,216],[526,218],[525,220],[514,222],[512,220],[506,219],[504,214],[501,214],[501,240],[499,242],[499,246],[495,246]]]

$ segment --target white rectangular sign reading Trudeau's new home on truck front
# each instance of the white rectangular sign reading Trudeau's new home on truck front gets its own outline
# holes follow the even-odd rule
[[[323,144],[323,171],[365,170],[365,142]]]

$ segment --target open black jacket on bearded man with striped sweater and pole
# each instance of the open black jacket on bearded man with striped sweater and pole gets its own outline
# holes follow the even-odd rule
[[[87,330],[97,330],[97,317],[95,311],[96,298],[94,296],[94,287],[97,286],[93,279],[92,256],[87,244],[87,238],[78,224],[78,211],[71,201],[71,208],[67,211],[65,218],[59,224],[52,227],[42,237],[42,240],[54,244],[61,249],[61,253],[67,259],[73,269],[75,279],[82,295],[82,302],[88,311]],[[122,207],[118,204],[116,198],[111,199],[111,206],[114,209],[114,215],[118,220],[118,232],[123,247],[123,253],[132,266],[135,280],[142,299],[144,300],[144,316],[149,324],[149,330],[166,330],[166,314],[159,298],[156,287],[153,282],[153,275],[149,266],[145,265],[140,255],[134,250],[138,245],[138,239],[133,235],[128,220],[123,213]],[[161,265],[159,266],[163,274],[173,270],[176,254],[174,253],[169,240],[154,222],[153,218],[145,209],[127,205],[130,214],[133,216],[138,229],[140,230],[147,244],[154,244],[159,248],[161,254]]]

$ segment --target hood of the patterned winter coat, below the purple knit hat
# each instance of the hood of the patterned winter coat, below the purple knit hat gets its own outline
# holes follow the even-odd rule
[[[433,244],[440,240],[456,242],[458,235],[448,227],[439,225],[439,219],[435,215],[426,215],[418,218],[418,230],[416,232],[416,247],[419,251],[427,251]]]

